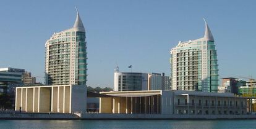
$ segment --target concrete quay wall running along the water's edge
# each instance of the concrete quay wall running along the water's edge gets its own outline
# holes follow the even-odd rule
[[[98,120],[98,119],[256,119],[256,115],[186,115],[186,114],[58,114],[58,113],[0,113],[0,119],[33,119],[33,120]]]

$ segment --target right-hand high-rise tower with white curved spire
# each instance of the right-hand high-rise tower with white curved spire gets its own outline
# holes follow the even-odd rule
[[[171,49],[171,85],[173,90],[218,92],[218,63],[215,40],[205,22],[205,35],[179,42]]]

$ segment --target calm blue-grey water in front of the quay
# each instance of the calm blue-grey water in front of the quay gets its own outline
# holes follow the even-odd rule
[[[0,128],[256,128],[256,120],[0,120]]]

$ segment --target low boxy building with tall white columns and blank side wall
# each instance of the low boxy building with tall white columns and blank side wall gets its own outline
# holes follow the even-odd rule
[[[15,111],[22,112],[86,112],[85,85],[45,85],[16,87]]]

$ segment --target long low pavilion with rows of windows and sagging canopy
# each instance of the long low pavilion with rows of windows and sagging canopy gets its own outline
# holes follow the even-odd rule
[[[100,113],[108,114],[252,114],[252,98],[233,93],[184,90],[101,92]],[[151,116],[153,117],[153,115]]]

